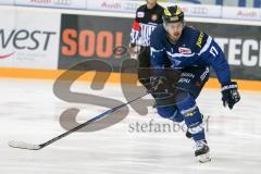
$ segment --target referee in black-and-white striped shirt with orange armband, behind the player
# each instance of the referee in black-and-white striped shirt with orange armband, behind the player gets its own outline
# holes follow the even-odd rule
[[[136,17],[130,33],[130,54],[138,52],[138,78],[139,82],[148,88],[149,78],[142,78],[141,67],[150,67],[150,35],[152,30],[162,24],[163,8],[157,3],[157,0],[147,0],[147,3],[139,7],[136,11]],[[138,46],[138,47],[137,47]]]

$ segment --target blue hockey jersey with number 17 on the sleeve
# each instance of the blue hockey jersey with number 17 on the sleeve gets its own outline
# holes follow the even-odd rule
[[[211,36],[185,26],[181,38],[172,44],[163,25],[159,25],[150,38],[151,66],[163,67],[167,59],[172,69],[212,66],[222,85],[231,82],[231,71],[220,46]]]

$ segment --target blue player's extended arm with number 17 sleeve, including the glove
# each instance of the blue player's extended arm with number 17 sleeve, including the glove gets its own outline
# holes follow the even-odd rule
[[[198,55],[215,71],[217,79],[222,85],[223,104],[224,107],[228,105],[229,109],[233,109],[234,104],[240,100],[240,96],[237,91],[237,83],[231,79],[231,70],[224,52],[212,37],[208,35],[202,37],[201,42],[203,45]]]

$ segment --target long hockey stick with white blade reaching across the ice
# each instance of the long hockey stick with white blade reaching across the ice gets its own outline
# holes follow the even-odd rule
[[[121,104],[121,105],[114,107],[114,108],[112,108],[112,109],[110,109],[110,110],[108,110],[108,111],[105,111],[105,112],[103,112],[103,113],[92,117],[91,120],[89,120],[89,121],[87,121],[85,123],[82,123],[80,125],[78,125],[78,126],[76,126],[76,127],[74,127],[74,128],[72,128],[72,129],[70,129],[70,130],[67,130],[67,132],[65,132],[65,133],[63,133],[63,134],[52,138],[52,139],[50,139],[50,140],[48,140],[48,141],[46,141],[44,144],[35,145],[35,144],[29,144],[29,142],[24,142],[24,141],[12,140],[12,141],[9,141],[9,146],[12,147],[12,148],[20,148],[20,149],[26,149],[26,150],[40,150],[40,149],[47,147],[48,145],[53,144],[53,142],[55,142],[59,139],[62,139],[63,137],[67,136],[69,134],[72,134],[72,133],[74,133],[74,132],[76,132],[76,130],[78,130],[78,129],[80,129],[80,128],[83,128],[83,127],[85,127],[85,126],[96,122],[96,121],[99,121],[101,119],[107,117],[108,114],[113,113],[114,111],[120,110],[121,108],[123,108],[123,107],[125,107],[125,105],[127,105],[127,104],[129,104],[129,103],[132,103],[132,102],[134,102],[134,101],[136,101],[136,100],[138,100],[138,99],[140,99],[140,98],[142,98],[145,96],[147,96],[148,94],[150,94],[150,92],[147,91],[145,95],[142,95],[142,96],[138,97],[138,98],[135,98],[135,99],[133,99],[133,100],[130,100],[128,102],[125,102],[125,103]]]

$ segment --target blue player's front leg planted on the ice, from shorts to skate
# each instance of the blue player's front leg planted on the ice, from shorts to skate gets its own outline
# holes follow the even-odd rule
[[[184,95],[177,97],[177,109],[184,115],[185,123],[188,127],[192,139],[196,142],[195,156],[200,162],[210,161],[209,147],[207,145],[202,114],[197,107],[196,98],[199,96],[202,87],[209,78],[208,67],[188,67],[183,71],[177,86],[188,91],[186,98]]]

